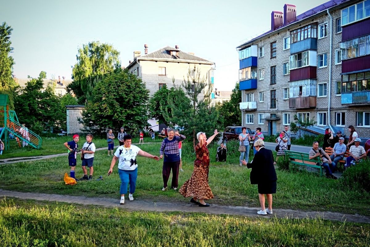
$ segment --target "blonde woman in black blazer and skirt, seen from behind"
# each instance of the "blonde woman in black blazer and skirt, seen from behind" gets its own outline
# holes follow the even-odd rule
[[[247,163],[243,160],[243,165],[252,168],[250,171],[250,183],[258,185],[258,196],[261,210],[258,214],[272,214],[272,194],[276,193],[276,172],[272,151],[265,148],[262,140],[257,140],[254,144],[257,153],[253,160]],[[265,208],[265,194],[268,201],[268,208]]]

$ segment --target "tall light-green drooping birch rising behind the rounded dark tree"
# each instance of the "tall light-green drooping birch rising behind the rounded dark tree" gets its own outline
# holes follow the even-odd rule
[[[77,63],[72,69],[73,83],[68,91],[77,96],[79,104],[91,99],[92,90],[104,74],[120,67],[120,52],[110,44],[92,41],[78,50]]]

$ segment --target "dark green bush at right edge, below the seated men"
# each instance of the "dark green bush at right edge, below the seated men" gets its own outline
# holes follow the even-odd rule
[[[341,180],[344,188],[370,192],[370,161],[364,160],[356,166],[347,168]]]

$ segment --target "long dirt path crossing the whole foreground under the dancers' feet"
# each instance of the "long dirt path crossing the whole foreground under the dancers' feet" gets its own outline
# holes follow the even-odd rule
[[[112,198],[99,197],[83,197],[83,196],[65,196],[55,194],[43,193],[24,193],[18,191],[8,191],[0,189],[0,197],[16,197],[20,199],[33,199],[38,201],[60,201],[65,203],[83,204],[83,205],[97,205],[102,207],[118,207],[125,208],[131,211],[144,210],[155,212],[180,211],[191,213],[208,213],[208,214],[229,214],[233,216],[245,217],[277,217],[277,218],[323,218],[325,220],[334,221],[349,221],[354,223],[370,223],[370,217],[361,216],[359,214],[342,214],[335,212],[318,212],[318,211],[299,211],[289,209],[275,209],[274,213],[266,216],[259,216],[257,211],[260,208],[240,207],[240,206],[220,206],[212,204],[211,207],[198,207],[192,203],[169,203],[169,202],[154,202],[143,201],[135,198],[134,201],[129,201],[128,197],[124,205],[119,204],[119,200]],[[257,198],[256,198],[257,200]]]

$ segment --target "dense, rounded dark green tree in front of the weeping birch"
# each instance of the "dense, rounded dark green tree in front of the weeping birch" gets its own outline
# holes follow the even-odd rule
[[[107,128],[123,126],[128,133],[148,126],[149,90],[134,74],[121,68],[105,75],[92,91],[91,100],[83,110],[83,132],[101,135]]]

